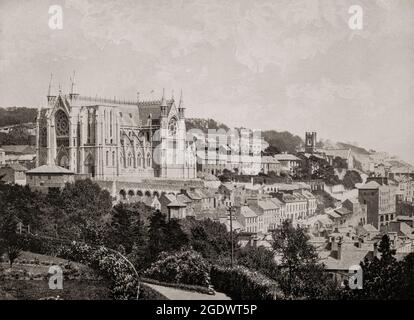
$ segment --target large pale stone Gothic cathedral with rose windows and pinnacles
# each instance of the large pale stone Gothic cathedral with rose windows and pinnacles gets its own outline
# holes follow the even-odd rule
[[[37,166],[58,165],[97,180],[196,178],[184,102],[121,101],[72,92],[47,96],[37,117]]]

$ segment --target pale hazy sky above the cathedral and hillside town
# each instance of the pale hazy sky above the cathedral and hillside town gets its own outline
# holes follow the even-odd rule
[[[48,26],[63,9],[63,30]],[[363,8],[363,30],[348,9]],[[412,0],[0,0],[0,105],[160,98],[187,116],[358,142],[414,162]],[[155,93],[150,92],[154,90]]]

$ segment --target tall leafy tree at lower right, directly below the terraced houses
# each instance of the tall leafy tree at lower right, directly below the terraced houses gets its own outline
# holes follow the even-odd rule
[[[318,262],[315,248],[301,227],[288,220],[273,231],[273,250],[281,258],[281,288],[287,295],[311,299],[327,299],[335,292],[324,267]]]

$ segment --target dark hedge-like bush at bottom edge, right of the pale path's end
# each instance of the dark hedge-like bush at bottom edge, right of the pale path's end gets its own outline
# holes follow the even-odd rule
[[[214,265],[210,276],[215,290],[224,292],[235,300],[285,299],[274,280],[242,266],[230,268]]]

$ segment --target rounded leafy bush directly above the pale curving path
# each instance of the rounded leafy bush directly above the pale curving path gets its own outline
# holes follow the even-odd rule
[[[158,261],[144,272],[147,278],[162,282],[181,283],[208,287],[209,266],[196,251],[161,253]]]

